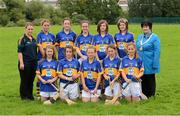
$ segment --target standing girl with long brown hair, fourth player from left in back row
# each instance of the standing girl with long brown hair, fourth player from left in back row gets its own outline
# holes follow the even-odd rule
[[[108,33],[108,23],[106,20],[100,20],[97,24],[98,34],[94,36],[93,45],[96,47],[97,60],[103,60],[106,57],[106,47],[109,44],[115,44],[111,34]]]

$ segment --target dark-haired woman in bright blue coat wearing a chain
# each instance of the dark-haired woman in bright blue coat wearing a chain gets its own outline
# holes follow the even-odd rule
[[[160,39],[152,32],[152,23],[141,23],[143,34],[138,36],[136,46],[138,54],[144,63],[144,76],[142,79],[142,92],[149,98],[155,95],[155,74],[160,72]]]

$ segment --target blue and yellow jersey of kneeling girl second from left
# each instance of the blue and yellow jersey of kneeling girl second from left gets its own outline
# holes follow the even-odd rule
[[[68,78],[72,78],[73,75],[79,73],[80,64],[76,59],[72,59],[71,61],[66,58],[59,61],[58,65],[58,74],[63,74]],[[60,82],[67,83],[68,80],[60,79]],[[74,83],[74,82],[72,82]]]

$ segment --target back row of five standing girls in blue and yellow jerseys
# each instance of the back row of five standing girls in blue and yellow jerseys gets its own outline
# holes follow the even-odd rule
[[[97,50],[98,60],[103,60],[106,57],[106,47],[108,44],[117,45],[118,55],[120,58],[126,56],[125,47],[129,42],[134,42],[132,33],[128,32],[128,21],[124,18],[119,19],[117,27],[119,32],[114,38],[108,33],[108,23],[105,20],[100,20],[97,24],[98,34],[92,35],[89,32],[89,22],[81,22],[81,34],[77,35],[71,30],[71,21],[69,18],[63,20],[63,29],[57,33],[56,37],[49,32],[50,22],[43,20],[41,22],[42,31],[37,36],[39,47],[38,59],[44,56],[43,49],[47,45],[55,45],[58,50],[58,60],[65,58],[64,48],[71,45],[76,49],[78,59],[84,60],[87,58],[86,49],[89,45],[94,45]]]

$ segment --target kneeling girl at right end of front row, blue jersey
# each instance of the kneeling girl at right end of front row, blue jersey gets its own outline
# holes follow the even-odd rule
[[[136,45],[127,44],[128,55],[122,59],[120,71],[128,86],[123,90],[122,95],[128,101],[139,101],[141,96],[140,78],[144,74],[142,60],[138,58]]]

